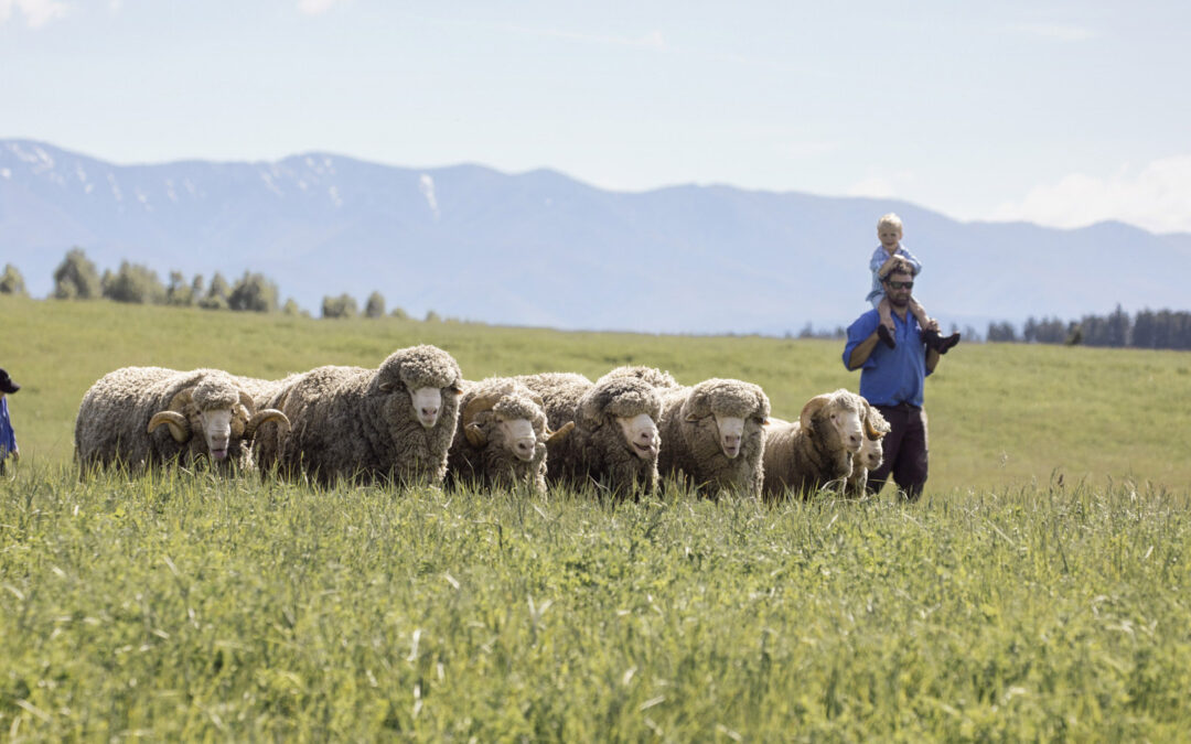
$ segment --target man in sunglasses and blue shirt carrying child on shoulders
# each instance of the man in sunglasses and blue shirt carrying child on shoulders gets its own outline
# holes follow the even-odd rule
[[[880,317],[871,310],[848,326],[843,365],[860,369],[860,394],[875,406],[892,430],[885,436],[885,461],[868,474],[868,492],[877,493],[890,474],[913,501],[927,483],[927,413],[922,392],[927,375],[939,364],[939,351],[928,349],[910,310],[913,268],[897,258],[881,283],[893,312],[897,344],[880,343]]]

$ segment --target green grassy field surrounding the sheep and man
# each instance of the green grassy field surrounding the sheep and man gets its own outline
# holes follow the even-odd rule
[[[622,363],[855,389],[842,345],[319,321],[0,296],[0,739],[1109,739],[1191,730],[1191,357],[961,345],[931,480],[763,507],[667,488],[80,482],[126,364],[280,376],[435,343],[469,379]]]

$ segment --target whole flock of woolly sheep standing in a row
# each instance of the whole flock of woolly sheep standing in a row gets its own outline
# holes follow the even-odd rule
[[[101,377],[75,421],[83,473],[208,459],[328,486],[355,482],[528,487],[596,484],[616,498],[661,477],[700,492],[777,500],[859,496],[890,427],[844,389],[796,421],[769,417],[756,384],[621,367],[463,380],[442,349],[411,346],[376,369],[319,367],[283,380],[216,369],[127,367]]]

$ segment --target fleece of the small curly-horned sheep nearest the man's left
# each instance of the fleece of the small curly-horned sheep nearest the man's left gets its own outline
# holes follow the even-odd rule
[[[827,406],[811,417],[811,425],[802,421],[774,426],[765,445],[765,498],[775,500],[787,490],[809,498],[829,483],[842,487],[852,474],[852,452],[831,426],[831,413],[856,409],[859,395],[838,390]]]

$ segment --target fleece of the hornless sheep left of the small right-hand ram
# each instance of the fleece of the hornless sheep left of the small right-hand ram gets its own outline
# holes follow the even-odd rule
[[[744,419],[741,449],[731,459],[719,446],[717,413]],[[750,382],[712,379],[663,390],[657,469],[662,475],[681,473],[690,484],[712,495],[723,489],[760,496],[768,415],[769,399]]]

